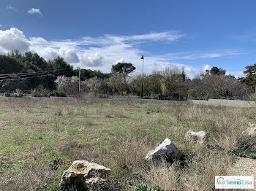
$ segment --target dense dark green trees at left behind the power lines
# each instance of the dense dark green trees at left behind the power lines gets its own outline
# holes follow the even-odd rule
[[[3,75],[10,74],[10,75]],[[16,75],[19,74],[19,75]],[[58,76],[78,76],[78,69],[73,69],[64,58],[57,57],[52,61],[45,61],[37,53],[26,52],[21,54],[18,50],[0,55],[0,90],[14,91],[32,90],[40,87],[47,90],[55,90],[54,82]],[[110,74],[101,71],[81,70],[81,79],[98,77],[107,78]]]

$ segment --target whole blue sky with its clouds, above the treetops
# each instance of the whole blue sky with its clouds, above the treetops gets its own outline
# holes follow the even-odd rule
[[[118,61],[141,73],[184,67],[189,77],[218,66],[241,76],[255,63],[256,1],[1,0],[0,53],[62,56],[109,72]]]

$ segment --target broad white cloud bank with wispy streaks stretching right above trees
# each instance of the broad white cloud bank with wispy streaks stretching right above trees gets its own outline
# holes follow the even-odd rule
[[[65,61],[75,67],[82,69],[101,70],[110,72],[113,64],[118,62],[130,62],[137,69],[133,74],[141,74],[142,60],[140,56],[145,55],[146,74],[153,70],[164,69],[165,67],[176,66],[179,69],[184,68],[187,77],[192,78],[197,74],[211,69],[209,65],[188,65],[178,62],[184,59],[186,61],[201,58],[217,58],[223,56],[237,55],[238,50],[219,50],[219,51],[192,51],[176,52],[166,55],[151,55],[150,52],[141,50],[136,46],[140,43],[147,42],[173,42],[184,36],[178,31],[165,31],[160,33],[150,33],[133,36],[113,36],[105,35],[98,37],[86,36],[83,39],[56,40],[48,41],[42,37],[31,37],[26,39],[22,31],[17,28],[10,30],[0,30],[0,53],[7,53],[10,50],[18,49],[21,52],[37,52],[46,60],[53,60],[61,56]],[[240,53],[240,52],[239,52]],[[230,71],[231,72],[231,71]],[[235,74],[238,71],[232,71]]]

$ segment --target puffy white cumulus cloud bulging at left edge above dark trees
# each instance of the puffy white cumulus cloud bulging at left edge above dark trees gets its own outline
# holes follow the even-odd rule
[[[10,28],[10,30],[0,30],[0,52],[7,53],[11,50],[20,50],[26,52],[29,50],[29,41],[23,32],[17,28]]]

